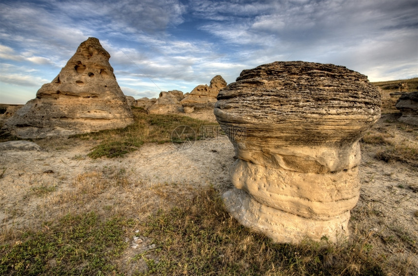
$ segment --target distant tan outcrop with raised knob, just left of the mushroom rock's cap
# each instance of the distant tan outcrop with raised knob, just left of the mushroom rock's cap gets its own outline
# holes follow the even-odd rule
[[[214,76],[209,86],[199,85],[194,87],[192,92],[181,101],[181,104],[216,103],[219,90],[225,86],[226,81],[220,75]]]

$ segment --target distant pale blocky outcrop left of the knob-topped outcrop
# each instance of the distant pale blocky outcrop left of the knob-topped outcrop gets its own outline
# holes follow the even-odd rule
[[[183,92],[181,91],[162,91],[159,93],[157,102],[148,107],[147,112],[149,114],[170,114],[182,112],[183,107],[180,104],[181,99],[183,99]]]

